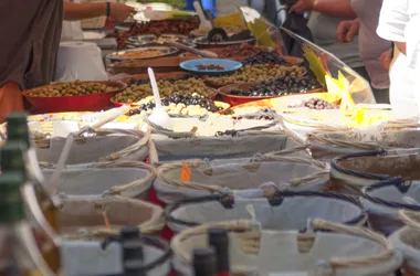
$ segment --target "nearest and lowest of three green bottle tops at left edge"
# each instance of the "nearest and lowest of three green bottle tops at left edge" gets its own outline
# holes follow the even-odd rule
[[[25,217],[20,191],[25,177],[19,172],[0,174],[0,224],[14,223]]]

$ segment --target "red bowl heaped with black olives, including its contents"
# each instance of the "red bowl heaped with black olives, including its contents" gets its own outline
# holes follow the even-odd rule
[[[318,82],[305,76],[279,76],[256,84],[232,84],[219,88],[223,102],[237,106],[254,100],[322,92]]]

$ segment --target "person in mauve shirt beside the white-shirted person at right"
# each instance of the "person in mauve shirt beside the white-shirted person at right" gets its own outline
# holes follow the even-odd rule
[[[342,21],[337,30],[340,43],[353,42],[358,35],[359,53],[378,104],[389,104],[389,76],[392,43],[381,39],[376,30],[382,0],[345,0],[351,3],[357,19]]]

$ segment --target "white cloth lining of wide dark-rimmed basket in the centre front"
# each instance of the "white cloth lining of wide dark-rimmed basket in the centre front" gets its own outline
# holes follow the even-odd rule
[[[255,214],[249,211],[252,208]],[[235,199],[232,209],[224,209],[219,201],[183,204],[170,213],[170,216],[185,222],[212,223],[237,220],[255,220],[264,230],[304,230],[309,219],[324,219],[335,223],[345,223],[363,213],[357,205],[329,198],[293,197],[285,198],[281,205],[272,206],[266,199]],[[168,222],[175,232],[187,229],[186,225]]]

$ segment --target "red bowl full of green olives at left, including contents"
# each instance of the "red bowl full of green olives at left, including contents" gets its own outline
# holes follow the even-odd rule
[[[22,94],[35,113],[101,112],[111,108],[109,99],[126,88],[120,82],[55,83]]]

